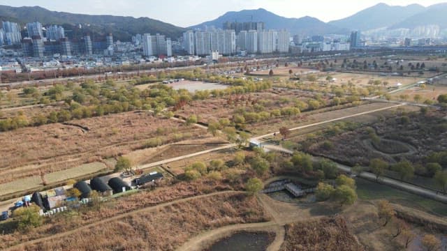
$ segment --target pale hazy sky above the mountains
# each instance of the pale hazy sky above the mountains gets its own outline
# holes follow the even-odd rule
[[[183,27],[214,20],[227,11],[255,8],[265,8],[284,17],[309,15],[328,22],[353,15],[380,2],[430,6],[446,0],[0,0],[1,5],[38,5],[70,13],[151,17]]]

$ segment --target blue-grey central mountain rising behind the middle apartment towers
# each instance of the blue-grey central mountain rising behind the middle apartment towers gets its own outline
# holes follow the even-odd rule
[[[224,22],[264,22],[266,29],[287,29],[292,34],[316,35],[328,33],[347,33],[345,29],[339,29],[330,24],[326,24],[314,17],[286,18],[269,12],[263,8],[258,10],[230,11],[221,15],[215,20],[197,24],[189,28],[203,28],[215,26],[221,28]]]

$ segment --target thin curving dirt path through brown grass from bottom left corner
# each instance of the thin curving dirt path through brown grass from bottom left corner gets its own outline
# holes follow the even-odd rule
[[[114,217],[107,218],[105,220],[100,220],[98,222],[94,222],[94,223],[91,223],[91,224],[88,224],[88,225],[84,225],[82,227],[78,227],[78,228],[72,229],[70,231],[64,231],[63,233],[60,233],[60,234],[54,234],[52,236],[38,238],[38,239],[32,240],[32,241],[25,241],[23,243],[20,243],[19,245],[14,245],[14,246],[12,246],[10,248],[7,248],[6,250],[22,250],[27,245],[33,245],[33,244],[36,244],[36,243],[41,243],[43,241],[51,241],[54,238],[62,238],[62,237],[65,237],[65,236],[69,236],[69,235],[75,233],[76,231],[82,231],[84,229],[89,229],[91,227],[96,227],[98,225],[104,225],[104,224],[106,224],[108,222],[112,222],[112,221],[115,221],[115,220],[126,218],[126,217],[129,217],[131,215],[138,214],[138,213],[157,211],[160,208],[163,208],[163,207],[166,207],[166,206],[172,206],[173,204],[178,204],[178,203],[182,203],[182,202],[186,202],[186,201],[191,201],[191,200],[194,200],[194,199],[203,199],[203,198],[207,198],[207,197],[212,197],[214,195],[237,194],[237,193],[243,193],[243,192],[237,192],[237,191],[212,192],[212,193],[210,193],[208,195],[198,195],[198,196],[195,196],[195,197],[189,197],[189,198],[184,198],[184,199],[177,199],[175,201],[166,202],[166,203],[159,204],[159,205],[156,205],[156,206],[151,206],[151,207],[148,207],[148,208],[141,208],[141,209],[138,209],[138,210],[135,210],[135,211],[131,211],[129,213],[123,213],[123,214],[120,214],[120,215],[116,215]]]

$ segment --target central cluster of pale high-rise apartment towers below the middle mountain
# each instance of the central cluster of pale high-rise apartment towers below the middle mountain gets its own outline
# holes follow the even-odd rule
[[[237,49],[248,54],[285,53],[289,50],[291,33],[286,30],[266,30],[263,22],[226,22],[223,29],[186,31],[184,50],[191,55],[236,54]]]

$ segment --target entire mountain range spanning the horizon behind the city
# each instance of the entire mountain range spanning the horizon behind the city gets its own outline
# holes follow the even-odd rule
[[[439,26],[447,34],[447,3],[433,6],[389,6],[379,3],[349,17],[323,22],[315,17],[287,18],[268,10],[230,11],[215,20],[187,28],[174,26],[149,17],[122,17],[113,15],[82,15],[50,11],[38,6],[10,7],[0,6],[0,20],[19,22],[39,21],[43,25],[59,24],[64,26],[69,38],[79,38],[90,33],[92,36],[104,36],[112,33],[116,40],[128,41],[136,33],[161,33],[170,38],[178,38],[186,29],[198,29],[205,26],[222,27],[224,22],[264,22],[267,29],[287,29],[292,34],[312,36],[317,34],[344,34],[353,30],[374,31],[376,29],[416,29],[420,26]],[[80,25],[81,24],[81,25]]]

